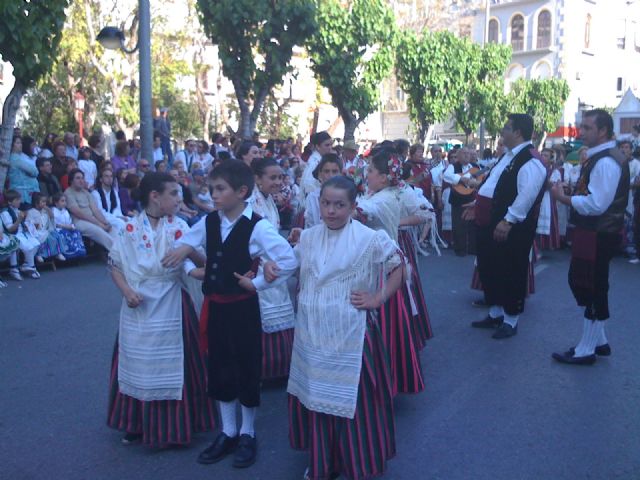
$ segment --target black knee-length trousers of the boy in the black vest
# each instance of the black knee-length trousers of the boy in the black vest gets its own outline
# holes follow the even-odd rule
[[[260,405],[262,324],[258,296],[209,305],[209,396]]]

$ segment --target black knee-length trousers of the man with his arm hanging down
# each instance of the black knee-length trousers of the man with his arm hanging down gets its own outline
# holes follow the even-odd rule
[[[488,305],[503,307],[507,315],[524,311],[529,275],[529,252],[535,232],[511,229],[505,242],[493,239],[495,226],[476,227],[478,273]]]

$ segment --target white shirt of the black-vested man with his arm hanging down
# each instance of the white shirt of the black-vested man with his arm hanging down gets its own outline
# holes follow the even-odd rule
[[[478,195],[493,198],[498,180],[502,176],[504,170],[511,165],[513,158],[524,150],[525,147],[531,145],[531,142],[523,142],[515,146],[511,151],[507,151],[502,159],[491,169],[486,182],[478,190]],[[527,218],[527,214],[536,201],[542,185],[547,180],[547,170],[542,162],[534,158],[526,162],[520,170],[518,170],[517,188],[518,194],[507,209],[504,218],[511,223],[520,223]]]

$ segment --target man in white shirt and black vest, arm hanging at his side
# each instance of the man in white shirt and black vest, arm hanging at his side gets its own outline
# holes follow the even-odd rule
[[[476,197],[478,273],[489,315],[471,325],[497,328],[495,339],[518,333],[527,295],[529,252],[547,178],[531,144],[532,133],[531,116],[509,115],[502,129],[507,151]]]

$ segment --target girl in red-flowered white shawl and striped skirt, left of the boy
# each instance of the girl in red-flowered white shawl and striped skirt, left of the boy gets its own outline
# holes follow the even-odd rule
[[[180,190],[171,175],[146,174],[138,197],[142,213],[125,224],[109,252],[111,275],[124,298],[107,425],[125,432],[125,444],[186,445],[193,432],[214,427],[197,317],[182,288],[183,267],[161,263],[189,227],[173,216]]]

